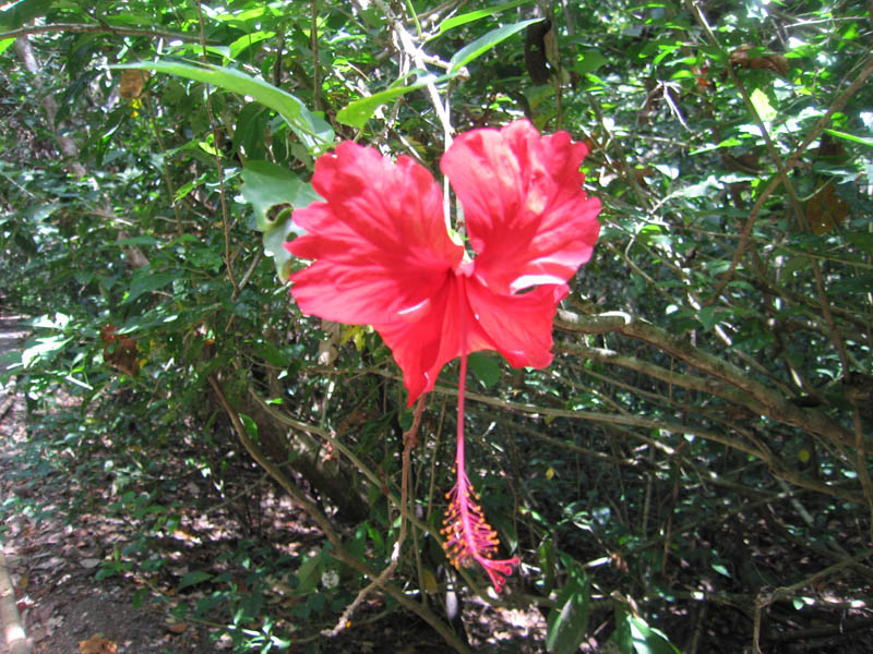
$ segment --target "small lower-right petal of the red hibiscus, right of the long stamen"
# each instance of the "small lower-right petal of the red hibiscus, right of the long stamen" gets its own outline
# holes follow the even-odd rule
[[[492,349],[514,367],[546,367],[551,363],[552,317],[567,292],[562,283],[501,295],[478,279],[467,283],[467,296],[483,340],[494,343]]]

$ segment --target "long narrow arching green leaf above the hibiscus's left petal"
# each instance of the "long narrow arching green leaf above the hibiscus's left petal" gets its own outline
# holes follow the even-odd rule
[[[333,144],[334,131],[325,120],[312,113],[302,101],[289,93],[258,80],[246,73],[217,65],[194,65],[181,61],[144,61],[140,63],[125,63],[113,65],[117,69],[144,69],[178,75],[196,82],[213,84],[225,90],[230,90],[242,96],[251,96],[259,102],[266,105],[288,123],[307,147],[320,154]]]

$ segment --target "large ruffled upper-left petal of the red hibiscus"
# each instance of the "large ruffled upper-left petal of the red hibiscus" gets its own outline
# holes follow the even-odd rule
[[[319,158],[312,185],[325,202],[294,213],[307,233],[285,244],[315,259],[291,276],[301,311],[361,325],[432,311],[428,299],[464,250],[449,237],[430,172],[409,157],[393,164],[345,142]]]

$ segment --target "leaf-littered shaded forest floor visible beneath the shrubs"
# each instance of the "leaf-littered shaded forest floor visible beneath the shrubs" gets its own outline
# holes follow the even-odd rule
[[[20,351],[26,336],[14,316],[0,316],[0,374],[4,354]],[[164,537],[155,536],[153,531],[147,554],[157,553],[169,562],[151,573],[143,572],[144,566],[131,566],[110,576],[100,574],[111,567],[115,553],[134,544],[137,530],[143,529],[133,519],[122,520],[120,513],[108,510],[119,496],[119,489],[113,487],[118,475],[110,474],[111,467],[121,460],[119,451],[128,453],[123,452],[129,444],[122,432],[134,429],[135,424],[122,424],[117,432],[115,426],[104,429],[111,437],[89,438],[86,450],[67,447],[63,445],[67,436],[76,437],[88,428],[87,420],[96,421],[99,416],[82,417],[71,398],[56,392],[57,413],[65,414],[68,422],[58,419],[52,423],[51,412],[37,411],[33,405],[28,412],[14,378],[5,386],[1,379],[0,514],[4,524],[0,526],[0,552],[34,654],[230,652],[232,645],[224,628],[231,619],[229,615],[218,615],[213,622],[174,617],[175,607],[192,605],[204,596],[198,593],[196,584],[182,592],[186,584],[180,584],[180,580],[193,571],[210,570],[217,574],[217,561],[251,537],[267,556],[275,557],[289,550],[311,552],[322,547],[323,535],[256,465],[242,457],[224,460],[232,467],[226,476],[232,487],[217,494],[202,475],[192,475],[179,464],[196,456],[196,447],[204,447],[198,443],[199,437],[191,443],[168,438],[162,456],[163,468],[150,470],[150,474],[155,485],[168,480],[176,484],[176,489],[166,492],[160,501],[167,506],[172,501],[183,502],[184,522]],[[124,398],[120,397],[120,401]],[[81,441],[72,438],[71,443]],[[827,516],[828,507],[816,505],[813,499],[809,498],[806,506],[816,516]],[[699,589],[711,582],[713,597],[711,603],[692,605],[690,613],[665,616],[667,632],[677,638],[674,642],[684,643],[683,652],[751,654],[754,603],[762,589],[788,586],[802,578],[816,579],[815,571],[827,569],[835,560],[845,560],[825,547],[813,547],[814,543],[797,537],[790,538],[790,545],[785,541],[779,544],[778,534],[788,533],[787,528],[780,526],[781,519],[790,510],[791,505],[782,505],[775,511],[768,509],[749,516],[743,512],[730,520],[719,519],[711,537],[725,546],[749,544],[751,548],[738,549],[731,558],[732,566],[736,561],[736,574],[728,580],[731,586],[719,574],[683,566],[685,588]],[[839,543],[862,550],[857,531],[849,523],[832,522],[828,526],[828,533],[836,534]],[[708,545],[697,545],[704,546]],[[754,556],[748,556],[748,552]],[[249,579],[244,568],[226,570],[236,576],[238,586],[244,588]],[[858,571],[864,576],[859,578]],[[717,598],[719,584],[721,600]],[[873,617],[865,603],[857,602],[859,596],[866,596],[869,584],[865,568],[848,567],[823,578],[821,585],[813,584],[809,590],[810,605],[803,610],[788,598],[774,604],[762,629],[762,635],[766,635],[763,651],[767,654],[873,652]],[[137,597],[142,602],[136,602]],[[356,613],[352,628],[330,639],[319,632],[333,627],[342,607],[301,619],[295,614],[300,601],[292,593],[271,594],[267,606],[271,615],[282,617],[280,631],[298,638],[291,652],[443,654],[449,651],[429,626],[416,616],[386,606],[378,593],[370,595]],[[709,606],[713,608],[707,611]],[[591,625],[599,627],[583,645],[584,651],[607,651],[602,640],[610,632],[610,616],[611,611],[601,611],[597,621],[593,617]],[[494,608],[478,597],[465,596],[463,623],[474,652],[546,651],[546,619],[534,607]],[[598,637],[598,632],[602,633]],[[718,649],[713,649],[716,643]],[[0,643],[0,654],[7,652],[5,643]]]

